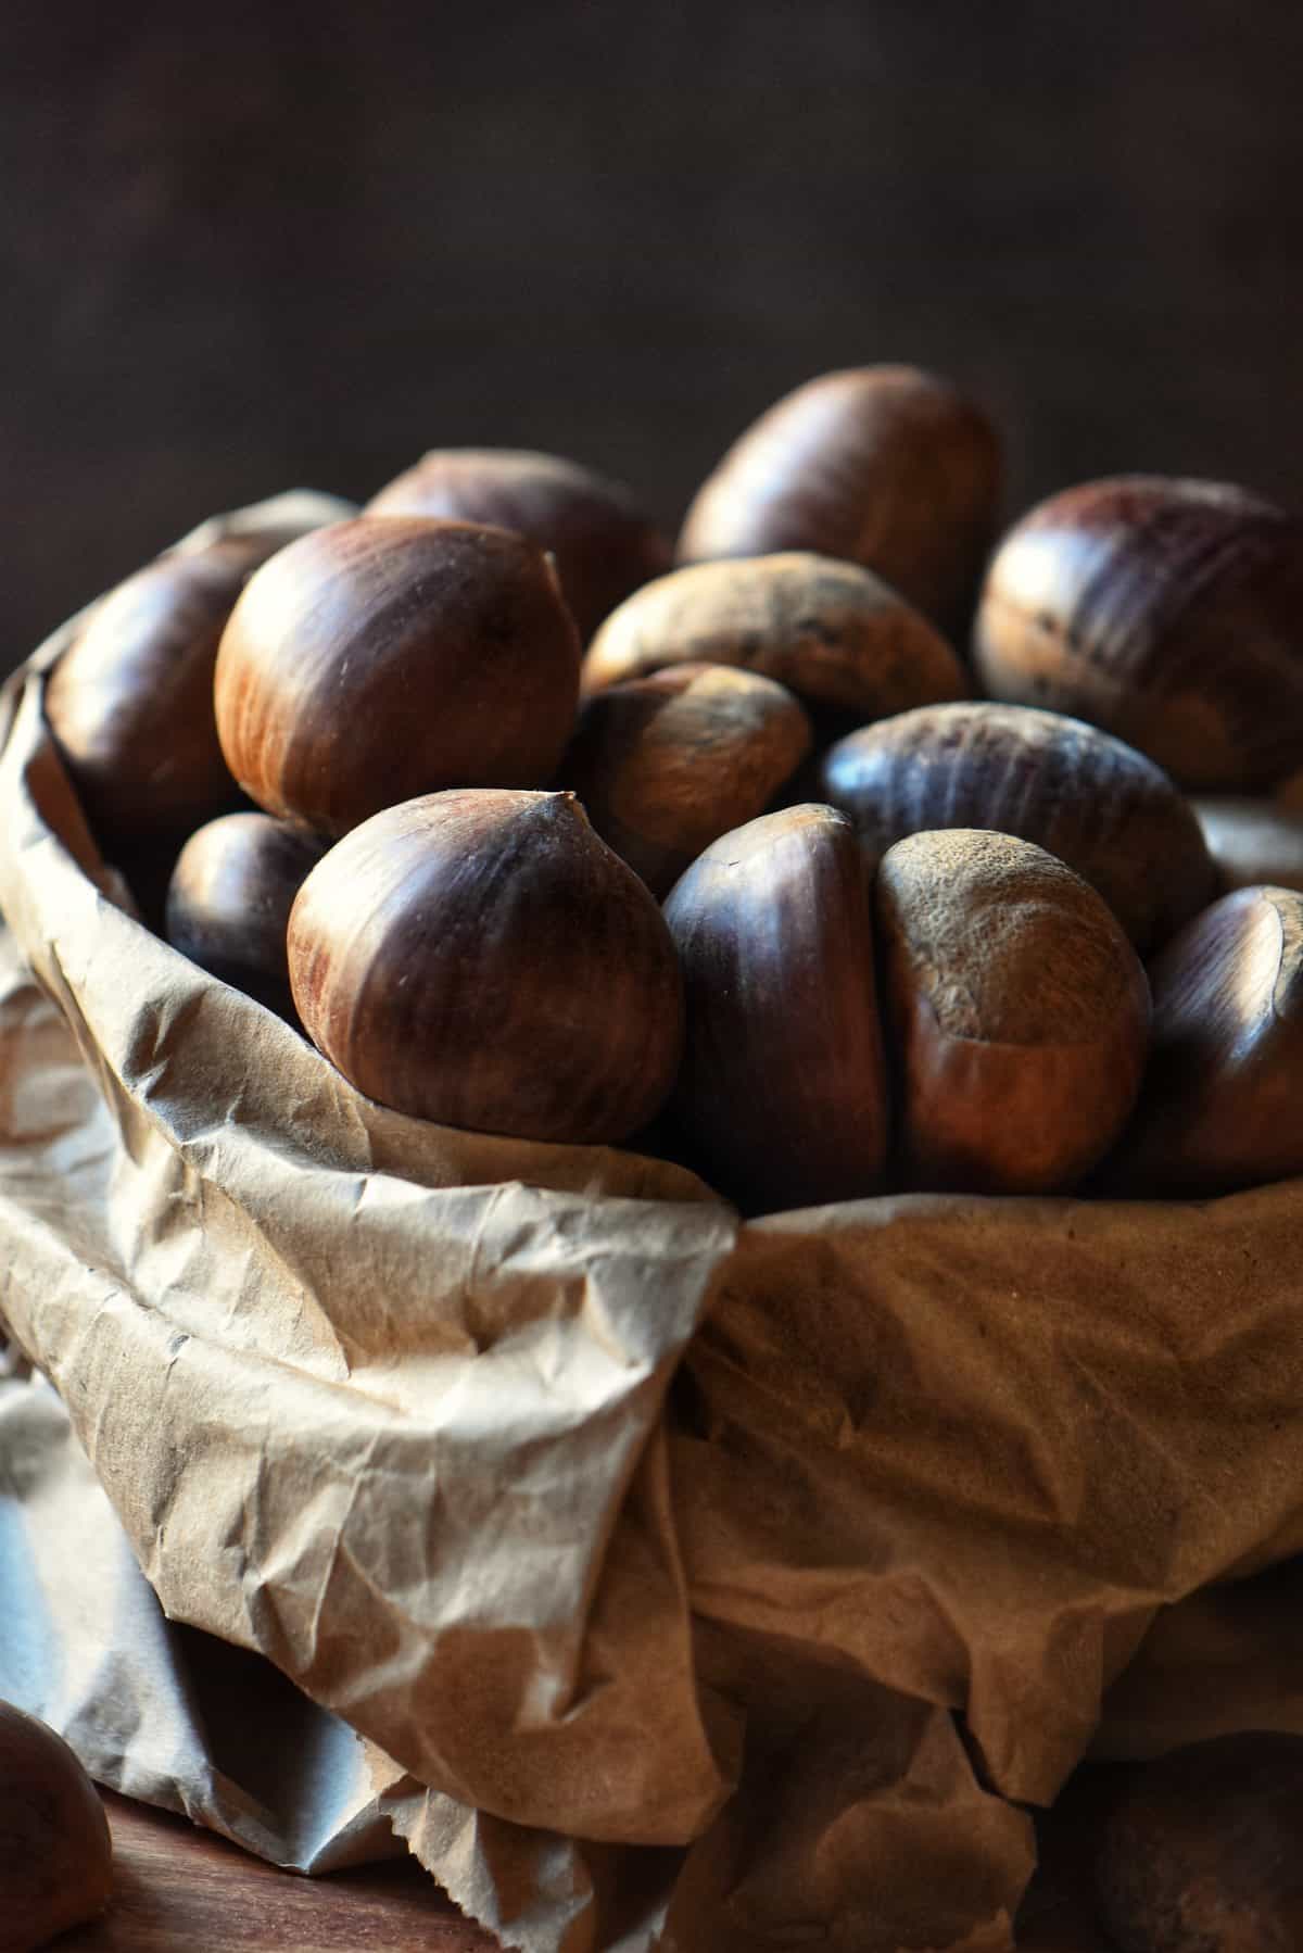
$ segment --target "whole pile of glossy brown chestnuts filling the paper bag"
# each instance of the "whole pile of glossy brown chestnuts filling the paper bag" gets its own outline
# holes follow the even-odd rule
[[[170,941],[400,1111],[750,1211],[1303,1172],[1303,523],[1153,475],[998,508],[910,367],[779,400],[676,547],[434,451],[143,568],[47,719]]]

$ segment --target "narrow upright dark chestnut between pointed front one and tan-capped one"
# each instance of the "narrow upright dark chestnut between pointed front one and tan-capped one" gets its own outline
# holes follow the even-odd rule
[[[713,842],[664,904],[688,1000],[670,1111],[752,1211],[877,1191],[887,1152],[873,928],[850,822],[787,807]]]

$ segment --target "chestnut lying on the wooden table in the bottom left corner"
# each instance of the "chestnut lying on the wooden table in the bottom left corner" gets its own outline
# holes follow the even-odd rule
[[[0,1953],[98,1918],[111,1892],[100,1793],[63,1736],[0,1703]]]

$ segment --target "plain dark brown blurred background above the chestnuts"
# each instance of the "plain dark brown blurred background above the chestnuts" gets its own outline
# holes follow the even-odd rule
[[[436,443],[674,521],[836,365],[1303,502],[1303,6],[0,14],[0,664],[201,516]]]

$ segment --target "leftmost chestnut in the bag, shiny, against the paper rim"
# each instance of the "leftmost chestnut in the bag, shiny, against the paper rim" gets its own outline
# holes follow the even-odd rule
[[[92,611],[45,686],[45,717],[105,846],[186,834],[238,805],[213,723],[223,627],[260,539],[158,557]]]

